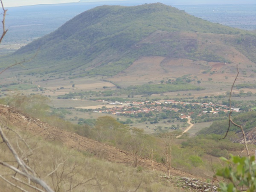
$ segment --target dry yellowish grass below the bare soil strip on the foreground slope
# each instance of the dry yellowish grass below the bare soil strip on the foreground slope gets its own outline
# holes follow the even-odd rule
[[[162,174],[161,172],[153,172],[141,167],[135,169],[123,164],[100,160],[86,152],[70,150],[56,141],[45,142],[40,137],[31,136],[26,132],[20,133],[20,135],[33,151],[33,154],[27,160],[29,166],[55,191],[68,191],[70,186],[74,187],[76,185],[78,186],[73,191],[126,192],[136,191],[138,187],[138,192],[178,191],[178,189],[172,187],[172,184],[167,184],[160,180],[159,175]],[[17,137],[12,132],[9,132],[7,136],[19,151],[20,156],[22,156],[28,148],[23,142],[17,140]],[[26,155],[24,159],[25,157]],[[0,159],[5,161],[13,160],[4,143],[1,144]],[[15,165],[15,163],[13,164]],[[56,169],[57,167],[58,169]],[[49,175],[55,169],[56,171]],[[1,167],[1,175],[6,175],[5,177],[12,180],[9,174],[13,175],[14,173]],[[22,177],[20,179],[24,180]],[[20,183],[16,184],[20,185]],[[23,187],[28,191],[32,191],[26,186]],[[0,182],[0,188],[5,192],[17,191],[16,188],[9,186],[5,182]]]

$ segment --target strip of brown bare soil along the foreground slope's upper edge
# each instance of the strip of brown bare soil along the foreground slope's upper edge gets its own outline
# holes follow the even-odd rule
[[[58,141],[70,149],[87,151],[94,154],[96,157],[104,157],[104,159],[111,162],[124,163],[133,166],[133,157],[127,151],[122,151],[113,146],[61,130],[60,128],[41,122],[39,119],[34,119],[21,114],[11,107],[0,105],[0,122],[2,124],[8,123],[11,126],[17,127],[20,131],[28,131],[30,134],[42,137],[47,141]],[[148,159],[143,159],[140,161],[139,166],[150,169],[150,161]],[[163,164],[154,162],[154,167],[158,171],[166,172]],[[171,169],[171,175],[195,177],[194,175],[176,169]]]

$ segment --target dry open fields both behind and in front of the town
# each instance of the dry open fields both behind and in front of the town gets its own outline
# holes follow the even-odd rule
[[[95,102],[91,99],[104,98],[101,94],[99,96],[95,95],[84,95],[83,98],[76,99],[57,99],[58,96],[65,95],[68,93],[82,93],[82,92],[102,92],[105,90],[118,90],[116,85],[121,88],[125,88],[131,85],[143,85],[148,84],[149,82],[153,84],[160,84],[160,81],[168,81],[169,79],[175,80],[177,78],[186,76],[187,79],[190,79],[190,84],[196,85],[199,87],[204,87],[205,90],[189,90],[189,91],[176,91],[176,92],[167,92],[147,95],[142,97],[141,95],[134,95],[132,98],[128,97],[125,94],[118,94],[113,97],[119,97],[127,100],[140,101],[140,100],[151,100],[151,99],[188,99],[193,98],[197,99],[198,97],[210,97],[210,96],[220,96],[226,95],[227,91],[230,91],[233,80],[236,76],[236,63],[239,64],[239,61],[244,61],[239,64],[241,71],[239,73],[239,78],[236,81],[236,84],[241,83],[251,83],[254,84],[254,72],[256,69],[255,65],[248,61],[243,55],[233,55],[230,54],[227,56],[233,60],[234,63],[224,64],[224,63],[214,63],[206,61],[192,61],[189,59],[177,59],[177,58],[165,58],[165,57],[142,57],[134,62],[130,67],[128,67],[124,73],[119,73],[113,77],[106,76],[85,76],[72,78],[73,74],[70,73],[56,73],[56,74],[26,74],[27,67],[24,65],[23,71],[17,75],[16,69],[6,71],[6,73],[1,76],[2,84],[12,84],[20,83],[17,85],[9,86],[12,91],[1,91],[0,95],[4,96],[5,94],[40,94],[43,96],[48,96],[51,100],[50,106],[53,108],[83,108],[83,109],[96,109],[106,106],[107,108],[113,108],[114,105],[107,105],[107,102]],[[241,58],[240,58],[241,57]],[[252,66],[252,67],[250,67]],[[136,71],[136,73],[134,73]],[[205,72],[207,71],[207,72]],[[215,71],[213,73],[213,71]],[[224,71],[224,72],[223,72]],[[246,74],[246,75],[244,75]],[[103,81],[107,80],[107,81]],[[113,83],[111,83],[111,82]],[[198,81],[201,81],[199,84]],[[74,87],[72,86],[74,84]],[[38,91],[35,86],[40,86],[41,91]],[[29,87],[34,87],[29,89]],[[107,88],[103,88],[107,87]],[[7,87],[8,88],[8,87]],[[26,88],[26,90],[25,90]],[[3,90],[3,88],[1,89]],[[253,94],[256,94],[256,89],[234,89],[233,93],[238,94],[241,90],[244,93],[251,91]],[[255,100],[256,96],[250,97],[233,97],[233,100]],[[192,99],[190,99],[192,100]],[[221,99],[222,101],[223,99]],[[227,98],[226,98],[227,100]],[[113,101],[114,102],[114,101]],[[126,121],[131,119],[133,123],[128,124],[131,127],[142,128],[146,133],[155,133],[155,130],[158,127],[169,128],[172,125],[177,126],[181,123],[179,121],[175,122],[164,122],[163,120],[159,121],[157,124],[150,124],[147,122],[137,122],[138,119],[131,118],[129,116],[117,116],[106,113],[94,113],[94,112],[81,112],[76,109],[67,109],[69,114],[65,114],[65,119],[70,120],[73,123],[77,123],[76,120],[71,120],[75,118],[83,119],[97,119],[100,116],[113,116],[115,119]],[[194,125],[189,131],[189,135],[192,136],[202,128],[208,127],[212,122],[198,123]],[[182,128],[181,128],[182,130]]]

